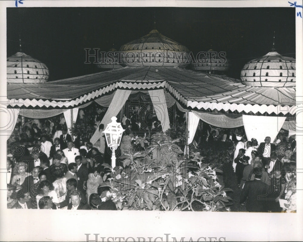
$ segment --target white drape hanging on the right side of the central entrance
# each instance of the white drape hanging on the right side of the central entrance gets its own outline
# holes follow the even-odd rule
[[[154,106],[157,118],[161,122],[162,131],[165,132],[167,129],[169,129],[169,117],[164,90],[148,90],[148,93]]]

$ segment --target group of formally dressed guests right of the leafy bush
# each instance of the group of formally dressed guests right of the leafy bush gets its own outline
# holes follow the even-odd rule
[[[240,203],[249,212],[293,212],[296,210],[296,144],[294,137],[279,133],[274,143],[269,136],[237,143],[233,168],[241,189]]]

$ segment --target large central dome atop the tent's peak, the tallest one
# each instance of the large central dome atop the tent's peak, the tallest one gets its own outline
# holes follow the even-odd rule
[[[140,39],[122,45],[124,66],[179,66],[185,67],[189,50],[154,29]]]

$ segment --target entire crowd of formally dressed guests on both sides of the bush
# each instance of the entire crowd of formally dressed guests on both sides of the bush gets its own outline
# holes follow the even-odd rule
[[[88,122],[93,131],[104,129],[100,125],[104,114],[104,108],[89,106],[79,110],[77,122]],[[152,109],[128,116],[121,117],[125,133],[118,155],[128,149],[123,143],[132,143],[134,136],[162,131]],[[176,115],[175,122],[184,122],[184,117]],[[18,117],[7,145],[7,207],[115,210],[115,203],[106,197],[109,187],[102,186],[111,178],[105,165],[111,164],[111,156],[106,146],[100,149],[89,142],[92,134],[73,136],[63,114],[52,119]],[[247,211],[295,210],[294,137],[279,133],[273,143],[270,137],[258,143],[248,141],[244,129],[211,128],[200,122],[195,139],[198,146],[212,146],[217,141],[235,144],[232,166],[241,189],[240,203],[246,203]]]

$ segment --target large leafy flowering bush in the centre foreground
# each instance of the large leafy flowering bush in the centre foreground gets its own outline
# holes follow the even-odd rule
[[[142,151],[126,152],[123,167],[115,167],[112,178],[101,185],[110,187],[107,196],[118,209],[193,211],[193,203],[199,203],[204,211],[228,210],[231,198],[226,192],[231,189],[221,186],[216,176],[222,171],[198,155],[186,160],[178,141],[163,135],[136,139],[146,144]]]

